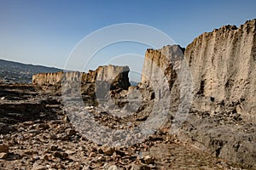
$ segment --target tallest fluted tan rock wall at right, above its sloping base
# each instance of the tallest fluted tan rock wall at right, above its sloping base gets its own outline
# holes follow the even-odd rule
[[[196,110],[210,111],[207,100],[240,105],[245,116],[256,111],[256,20],[222,26],[195,38],[185,51],[193,76]],[[255,115],[255,114],[254,114]]]

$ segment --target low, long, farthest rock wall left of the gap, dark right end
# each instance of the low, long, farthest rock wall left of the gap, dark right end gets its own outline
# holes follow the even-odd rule
[[[79,71],[55,72],[55,73],[40,73],[33,75],[32,83],[37,85],[56,85],[60,84],[63,76],[68,82],[79,81],[81,83],[92,82],[110,82],[113,88],[125,88],[130,86],[128,66],[100,66],[96,71],[89,71],[88,73]]]

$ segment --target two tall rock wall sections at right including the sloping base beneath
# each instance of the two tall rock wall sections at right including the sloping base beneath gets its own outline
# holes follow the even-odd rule
[[[177,126],[179,139],[214,156],[256,168],[255,77],[256,20],[249,20],[239,28],[222,26],[196,37],[184,55],[177,45],[148,49],[140,87],[151,84],[155,96],[161,90],[169,95],[162,86],[168,82],[173,119],[169,126],[172,129],[182,120]],[[186,98],[189,94],[192,96]],[[189,110],[180,105],[184,100],[191,104]],[[187,115],[178,116],[175,111]]]

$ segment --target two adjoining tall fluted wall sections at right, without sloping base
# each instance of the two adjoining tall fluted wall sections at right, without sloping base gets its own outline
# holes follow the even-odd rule
[[[241,116],[255,119],[255,23],[256,20],[250,20],[239,28],[222,26],[204,33],[189,44],[184,55],[183,48],[177,45],[147,49],[142,84],[151,83],[159,90],[158,84],[167,80],[170,90],[178,91],[172,87],[179,86],[177,71],[179,61],[183,60],[189,66],[195,111],[232,109]]]

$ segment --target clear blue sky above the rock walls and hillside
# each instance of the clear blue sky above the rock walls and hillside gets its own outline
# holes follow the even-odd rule
[[[79,44],[89,40],[86,37],[97,33],[90,43],[84,43],[84,50],[95,48],[94,45],[113,36],[108,31],[105,34],[99,31],[124,23],[144,26],[146,30],[154,28],[172,38],[173,43],[186,47],[203,32],[253,20],[255,7],[255,0],[0,0],[0,59],[67,68]],[[119,32],[118,28],[114,29]],[[120,32],[131,34],[131,30]],[[151,34],[150,31],[132,32],[137,37]],[[97,47],[92,59],[91,54],[80,57],[90,57],[89,64],[88,59],[81,59],[86,61],[84,70],[117,64],[129,65],[131,70],[139,72],[146,48],[164,45],[167,45],[165,41],[154,47],[136,41],[113,42]],[[68,66],[79,70],[75,64]]]

